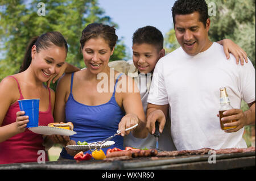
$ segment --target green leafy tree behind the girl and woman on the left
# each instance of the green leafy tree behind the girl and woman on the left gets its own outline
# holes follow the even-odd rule
[[[97,0],[49,0],[44,3],[45,16],[39,16],[42,12],[42,6],[38,7],[40,2],[42,0],[0,2],[0,50],[3,52],[0,81],[7,75],[18,73],[31,37],[47,31],[60,31],[68,42],[67,62],[83,68],[79,40],[85,26],[97,22],[118,28],[98,6]],[[126,56],[125,49],[123,41],[119,40],[111,60],[122,60]]]

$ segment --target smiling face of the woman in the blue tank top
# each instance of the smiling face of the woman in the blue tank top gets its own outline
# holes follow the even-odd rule
[[[109,58],[114,52],[102,37],[91,38],[84,43],[82,56],[87,69],[98,74],[108,69]]]

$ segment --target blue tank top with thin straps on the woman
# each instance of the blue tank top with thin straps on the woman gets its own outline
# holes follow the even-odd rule
[[[67,122],[71,121],[73,123],[73,131],[77,134],[70,136],[70,139],[76,141],[76,143],[77,141],[86,141],[90,143],[105,140],[117,132],[118,124],[122,117],[125,116],[125,112],[122,111],[115,101],[115,88],[118,79],[122,74],[120,74],[115,81],[114,92],[109,102],[98,106],[87,106],[77,102],[73,98],[73,75],[74,73],[71,75],[71,89],[68,101],[65,105],[65,116]],[[114,141],[115,144],[109,148],[117,147],[123,149],[122,136],[115,136],[111,141]],[[106,154],[106,151],[109,148],[102,148],[102,150]],[[86,151],[85,154],[86,153],[91,154],[91,151]],[[73,157],[67,153],[65,148],[62,149],[60,155],[63,158],[73,159]]]

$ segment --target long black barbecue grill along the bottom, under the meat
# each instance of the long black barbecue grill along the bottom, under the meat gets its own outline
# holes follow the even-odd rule
[[[211,155],[181,155],[176,157],[144,157],[124,161],[53,161],[46,163],[14,163],[0,165],[0,170],[10,169],[255,169],[255,151],[246,153],[217,154],[216,163],[209,163]]]

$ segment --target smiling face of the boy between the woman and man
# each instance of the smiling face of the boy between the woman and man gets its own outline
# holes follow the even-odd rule
[[[164,49],[158,50],[151,44],[133,44],[133,63],[140,73],[154,71],[155,65],[164,56]]]

